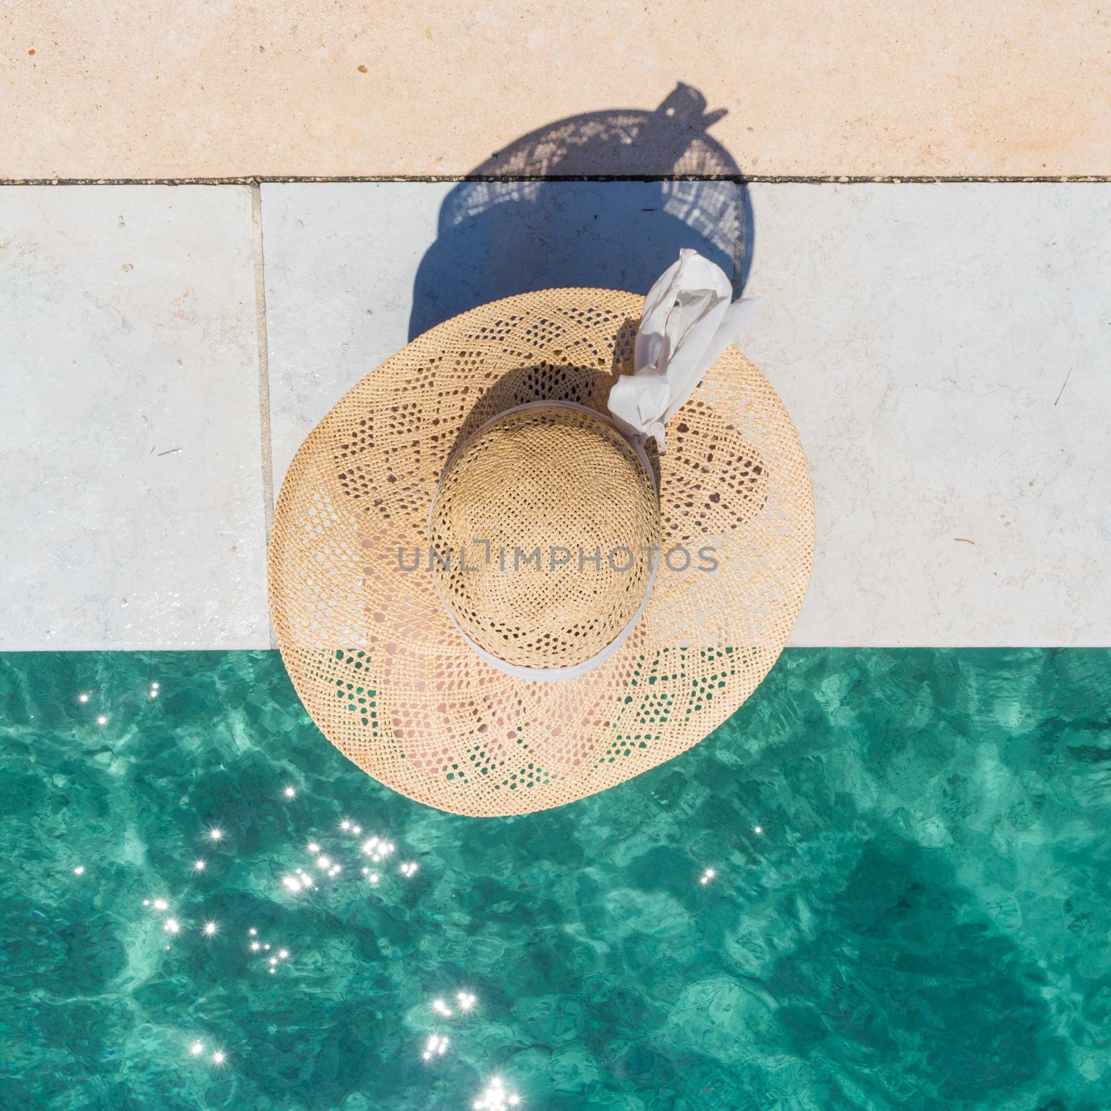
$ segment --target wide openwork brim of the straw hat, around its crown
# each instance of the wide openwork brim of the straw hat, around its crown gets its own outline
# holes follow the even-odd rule
[[[643,617],[577,679],[517,679],[459,634],[427,571],[441,473],[487,421],[538,400],[605,413],[643,299],[595,289],[507,298],[431,329],[363,378],[302,444],[270,543],[282,659],[313,720],[402,794],[454,813],[561,805],[695,744],[787,642],[813,562],[813,500],[774,391],[729,348],[653,458],[664,552]]]

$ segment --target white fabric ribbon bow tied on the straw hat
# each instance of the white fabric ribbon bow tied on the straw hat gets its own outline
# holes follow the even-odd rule
[[[664,451],[663,426],[760,304],[759,298],[730,304],[731,293],[724,270],[689,248],[657,279],[644,299],[633,372],[610,390],[610,412],[625,436],[654,437]]]

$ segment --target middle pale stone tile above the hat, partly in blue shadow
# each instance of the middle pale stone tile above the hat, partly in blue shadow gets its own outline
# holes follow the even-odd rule
[[[647,292],[680,247],[732,273],[730,182],[263,184],[276,492],[363,374],[466,309],[554,286]]]

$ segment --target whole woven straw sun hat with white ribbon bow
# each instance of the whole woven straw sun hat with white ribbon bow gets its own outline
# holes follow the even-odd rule
[[[301,446],[270,542],[324,735],[461,814],[557,807],[724,721],[813,558],[798,434],[693,251],[647,299],[524,293],[426,332]]]

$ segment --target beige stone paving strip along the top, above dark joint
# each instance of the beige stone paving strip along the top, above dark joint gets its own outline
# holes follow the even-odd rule
[[[1100,0],[0,0],[0,29],[7,180],[1111,172]]]

